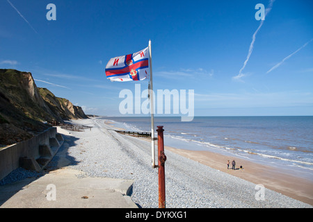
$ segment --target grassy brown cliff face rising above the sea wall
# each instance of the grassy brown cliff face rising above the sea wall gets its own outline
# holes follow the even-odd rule
[[[0,69],[0,145],[33,137],[49,127],[43,122],[81,118],[88,117],[80,107],[38,89],[31,73]]]

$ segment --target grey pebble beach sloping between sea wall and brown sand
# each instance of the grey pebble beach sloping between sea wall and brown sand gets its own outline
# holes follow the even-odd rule
[[[48,168],[56,167],[60,153],[65,153],[67,167],[85,172],[82,175],[134,180],[134,203],[138,207],[158,207],[158,171],[151,167],[150,142],[120,135],[104,124],[104,119],[72,123],[93,128],[64,135],[65,142]],[[166,207],[312,207],[270,189],[264,190],[264,200],[257,200],[259,188],[252,182],[170,151],[165,154]]]

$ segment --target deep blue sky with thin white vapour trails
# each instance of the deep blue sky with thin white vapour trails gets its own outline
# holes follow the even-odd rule
[[[46,18],[49,3],[56,21]],[[255,19],[257,3],[268,11],[263,22]],[[120,116],[120,91],[134,91],[138,81],[111,83],[106,63],[151,39],[155,92],[194,89],[195,116],[312,115],[312,6],[310,0],[1,0],[0,68],[31,71],[38,87],[87,114]]]

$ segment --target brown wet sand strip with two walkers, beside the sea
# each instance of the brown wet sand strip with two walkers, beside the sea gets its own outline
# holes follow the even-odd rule
[[[239,158],[234,159],[232,156],[221,155],[209,151],[188,151],[169,146],[166,146],[165,150],[188,157],[191,160],[198,161],[211,168],[218,169],[219,171],[229,173],[232,176],[248,180],[255,184],[262,184],[268,189],[313,205],[313,182],[296,176],[291,176],[289,173],[281,169],[256,164],[255,162]],[[227,160],[230,160],[230,169],[227,169]],[[235,160],[236,162],[236,170],[232,170],[232,160]],[[240,166],[243,166],[243,169],[239,169]]]

